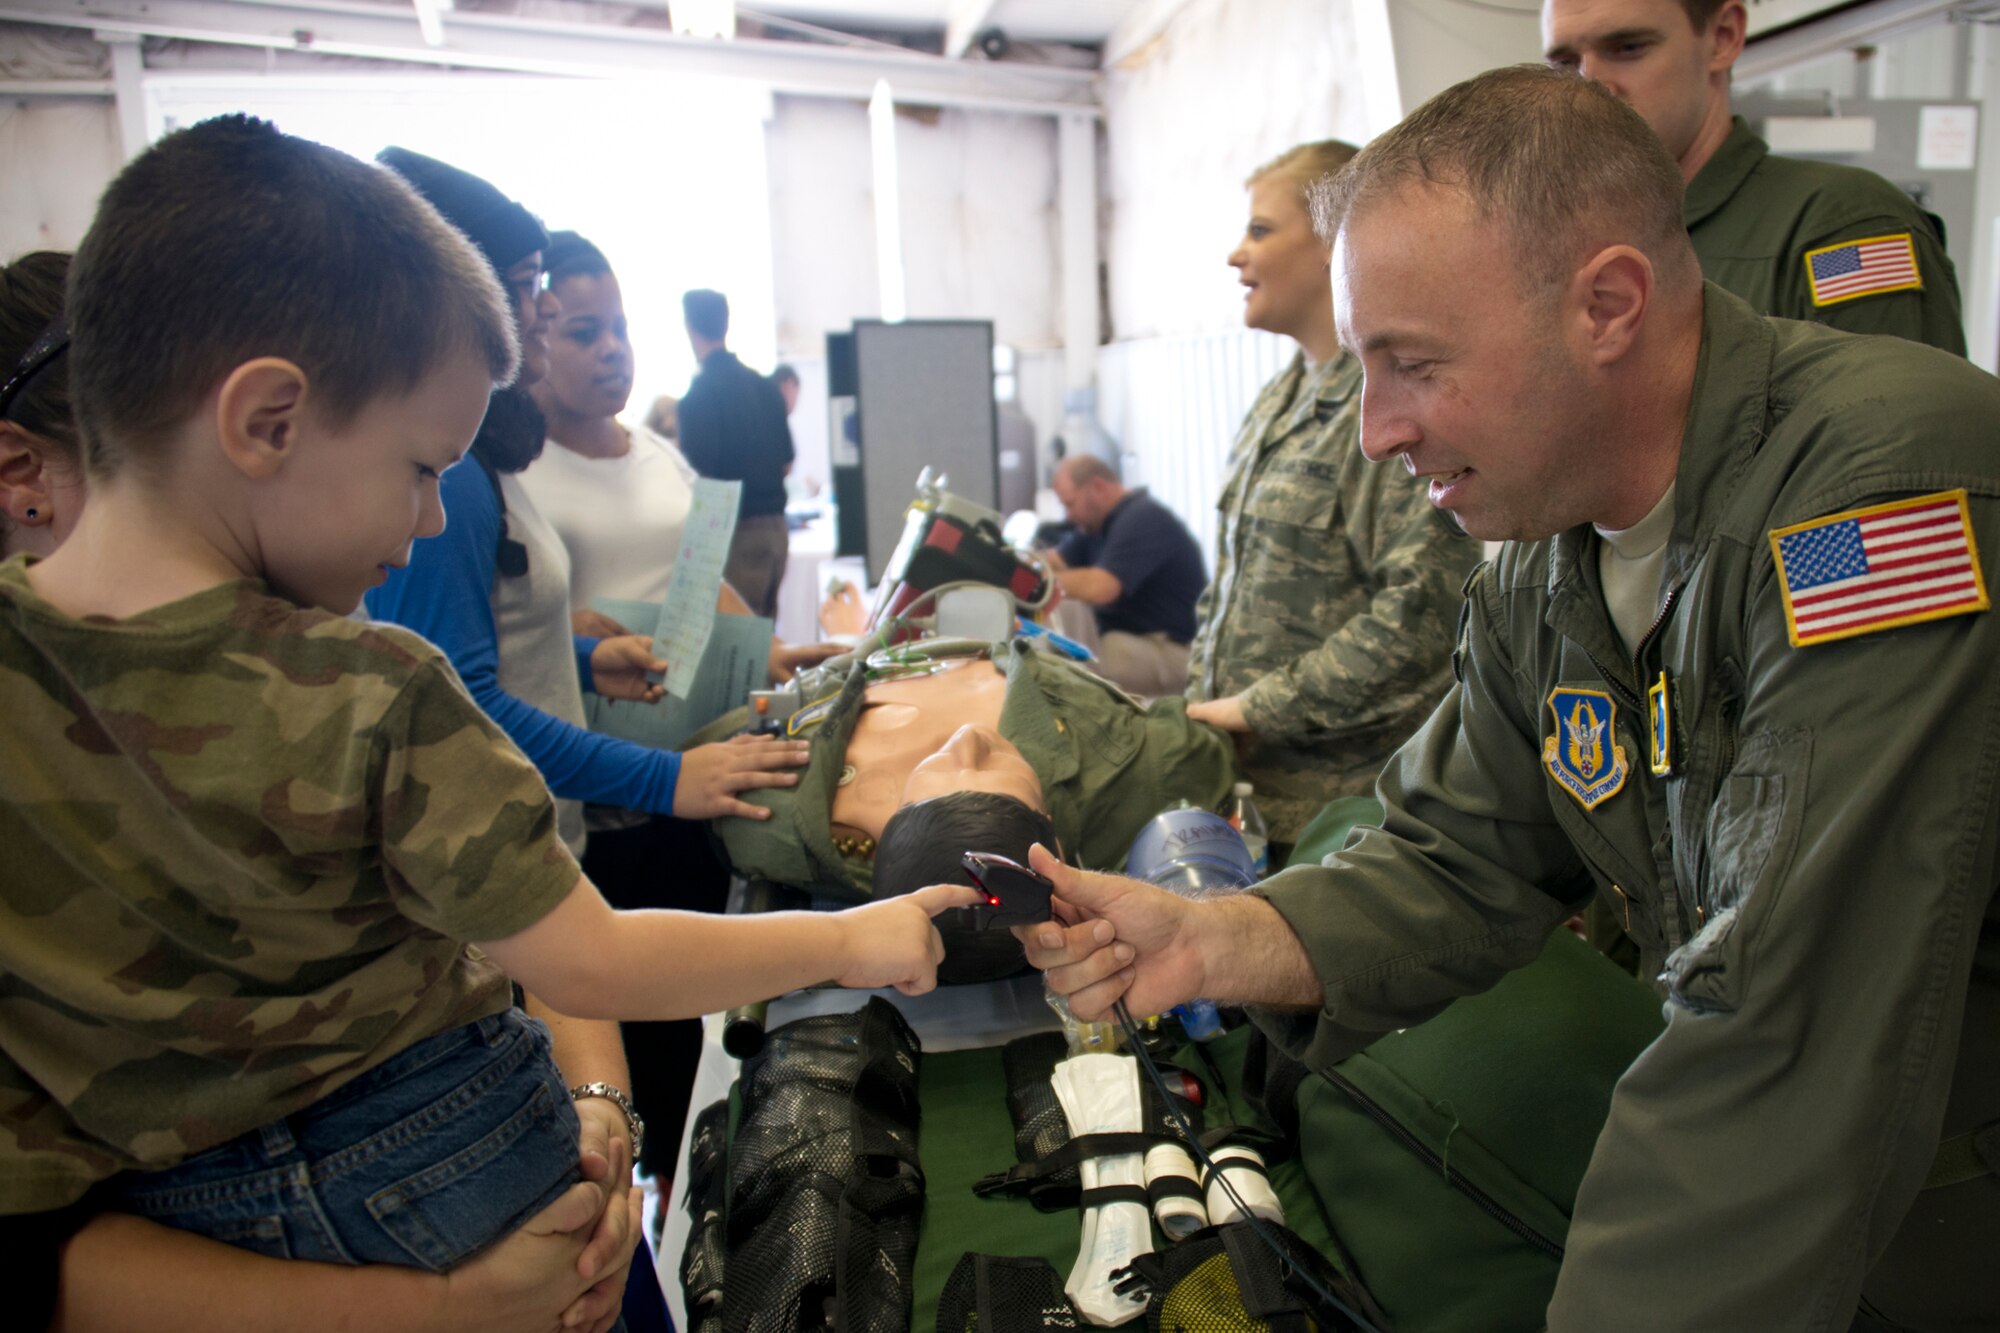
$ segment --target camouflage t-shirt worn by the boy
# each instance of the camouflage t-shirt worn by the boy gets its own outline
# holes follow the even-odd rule
[[[72,620],[0,564],[0,1213],[290,1115],[498,1013],[454,941],[576,885],[422,638],[234,582]]]

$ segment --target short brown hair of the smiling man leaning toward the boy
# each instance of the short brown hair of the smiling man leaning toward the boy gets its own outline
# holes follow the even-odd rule
[[[1662,286],[1700,280],[1674,158],[1638,112],[1568,70],[1516,64],[1446,88],[1314,186],[1312,226],[1332,244],[1414,182],[1464,190],[1506,232],[1524,292],[1606,244],[1642,250]]]

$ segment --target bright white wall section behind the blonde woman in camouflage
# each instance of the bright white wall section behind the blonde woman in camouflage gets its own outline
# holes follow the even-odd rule
[[[1126,480],[1176,510],[1202,550],[1230,440],[1290,344],[1242,326],[1228,254],[1244,176],[1286,148],[1366,136],[1346,0],[1190,0],[1104,78],[1112,344],[1104,428]]]

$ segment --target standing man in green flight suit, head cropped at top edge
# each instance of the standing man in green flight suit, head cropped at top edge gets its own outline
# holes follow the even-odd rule
[[[1688,182],[1702,274],[1760,314],[1966,352],[1942,226],[1858,166],[1772,156],[1730,116],[1742,0],[1542,0],[1548,62],[1646,118]]]

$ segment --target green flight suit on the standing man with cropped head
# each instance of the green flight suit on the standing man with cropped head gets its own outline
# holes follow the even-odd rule
[[[1934,218],[1858,166],[1780,158],[1736,116],[1682,206],[1702,274],[1762,314],[1896,334],[1966,354],[1958,274]],[[1908,234],[1920,288],[1814,304],[1806,256],[1842,240]]]

